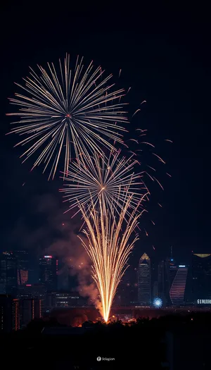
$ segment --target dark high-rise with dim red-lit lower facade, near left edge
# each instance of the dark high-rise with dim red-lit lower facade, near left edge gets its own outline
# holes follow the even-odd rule
[[[18,267],[18,285],[27,284],[29,280],[29,254],[27,250],[18,250],[14,252],[17,257]]]

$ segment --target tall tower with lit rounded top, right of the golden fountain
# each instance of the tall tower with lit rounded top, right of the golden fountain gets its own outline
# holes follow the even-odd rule
[[[151,260],[146,253],[139,260],[138,302],[143,306],[151,304]]]

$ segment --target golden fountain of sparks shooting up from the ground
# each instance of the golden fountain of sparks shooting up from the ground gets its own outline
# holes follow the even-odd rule
[[[132,241],[129,240],[138,226],[138,218],[141,215],[137,212],[139,205],[130,211],[127,223],[124,223],[125,215],[131,208],[132,197],[133,195],[125,192],[125,203],[117,219],[113,218],[110,209],[106,209],[105,202],[101,200],[97,209],[94,202],[91,202],[89,209],[79,203],[87,226],[84,230],[87,242],[79,238],[92,261],[92,277],[98,288],[101,314],[106,322],[110,316],[117,286],[127,269],[129,254],[139,239],[135,234]]]

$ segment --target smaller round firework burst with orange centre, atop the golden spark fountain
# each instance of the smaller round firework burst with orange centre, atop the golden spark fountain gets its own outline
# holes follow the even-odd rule
[[[133,155],[126,159],[120,156],[120,151],[110,153],[108,158],[94,154],[72,161],[64,187],[60,189],[65,193],[64,202],[70,202],[68,211],[74,209],[78,202],[89,206],[92,201],[96,209],[102,202],[113,216],[120,214],[126,190],[128,196],[133,195],[130,208],[136,208],[143,195],[148,193],[143,182],[145,172],[135,173],[136,164],[139,162],[133,159]],[[126,215],[130,215],[129,209]]]

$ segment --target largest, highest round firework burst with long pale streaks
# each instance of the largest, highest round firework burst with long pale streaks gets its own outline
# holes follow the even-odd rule
[[[23,161],[40,149],[33,168],[44,163],[46,171],[51,164],[49,178],[56,173],[64,147],[66,173],[72,156],[87,150],[101,154],[99,144],[115,151],[110,140],[123,144],[120,132],[125,131],[122,123],[127,118],[122,110],[124,104],[117,101],[124,96],[124,90],[113,92],[114,84],[109,84],[112,75],[102,78],[101,67],[94,70],[91,62],[85,69],[82,60],[77,58],[75,70],[70,68],[68,54],[64,65],[59,61],[58,70],[53,63],[48,63],[48,71],[38,66],[39,73],[30,68],[30,77],[23,79],[25,86],[16,84],[25,94],[15,94],[16,98],[10,99],[20,109],[8,116],[18,116],[20,121],[13,122],[18,127],[9,133],[26,136],[15,146],[30,144],[21,156]]]

